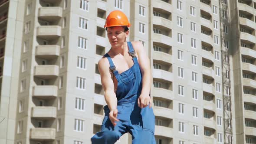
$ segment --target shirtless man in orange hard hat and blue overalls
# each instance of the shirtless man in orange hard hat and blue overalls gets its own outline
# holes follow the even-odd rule
[[[114,144],[123,134],[132,144],[155,144],[154,113],[151,108],[151,68],[141,42],[126,42],[130,23],[119,10],[105,22],[111,49],[98,62],[105,91],[105,117],[92,144]]]

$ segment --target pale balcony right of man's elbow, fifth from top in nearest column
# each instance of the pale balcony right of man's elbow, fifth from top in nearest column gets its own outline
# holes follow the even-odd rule
[[[153,78],[164,79],[165,81],[173,82],[173,73],[172,72],[167,72],[167,71],[161,70],[161,69],[153,69],[152,76],[153,76]]]

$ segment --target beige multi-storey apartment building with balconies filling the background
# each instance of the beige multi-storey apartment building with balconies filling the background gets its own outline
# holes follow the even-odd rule
[[[0,0],[0,144],[90,144],[112,10],[151,60],[157,144],[256,144],[255,0]]]

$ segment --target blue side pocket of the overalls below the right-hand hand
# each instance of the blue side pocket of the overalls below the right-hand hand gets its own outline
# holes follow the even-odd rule
[[[142,117],[142,128],[144,130],[149,130],[154,134],[154,124],[155,124],[155,116],[153,112],[153,108],[149,108],[149,105],[146,108],[141,109],[141,117]]]

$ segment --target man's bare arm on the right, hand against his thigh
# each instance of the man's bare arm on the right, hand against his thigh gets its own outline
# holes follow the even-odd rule
[[[142,105],[140,107],[144,108],[149,103],[150,103],[150,107],[151,107],[151,99],[149,97],[151,84],[152,84],[150,61],[149,61],[148,56],[146,55],[143,44],[141,42],[135,42],[135,45],[136,45],[136,52],[138,54],[138,62],[139,62],[141,73],[142,73],[141,96],[144,97],[144,98],[141,98],[140,104],[142,104]]]

